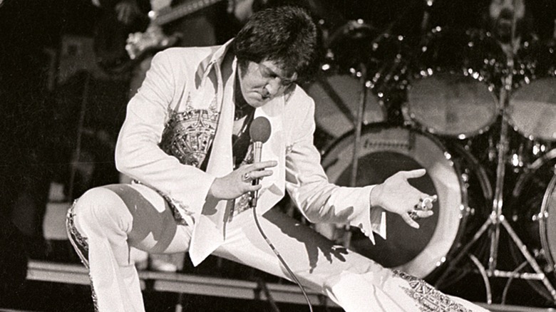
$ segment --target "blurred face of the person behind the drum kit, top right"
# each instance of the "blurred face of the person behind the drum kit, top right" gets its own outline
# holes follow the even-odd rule
[[[502,42],[510,42],[512,34],[525,16],[523,0],[492,0],[489,7],[490,25]]]

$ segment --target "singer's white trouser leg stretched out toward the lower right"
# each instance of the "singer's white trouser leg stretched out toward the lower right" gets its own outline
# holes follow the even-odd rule
[[[299,281],[329,296],[345,311],[487,311],[334,245],[279,209],[266,212],[259,223]],[[215,254],[291,280],[259,233],[251,211],[238,214],[227,224],[225,244]]]

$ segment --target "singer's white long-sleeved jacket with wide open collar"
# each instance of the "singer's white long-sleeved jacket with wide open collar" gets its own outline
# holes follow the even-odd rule
[[[232,171],[235,108],[232,79],[236,61],[232,68],[227,68],[229,71],[220,68],[228,46],[230,42],[214,47],[169,48],[158,53],[143,85],[128,104],[116,145],[115,160],[120,172],[167,194],[195,220],[190,246],[195,265],[225,239],[225,222],[211,216],[214,209],[207,209],[205,204],[215,177]],[[231,74],[222,77],[223,72],[230,71]],[[224,84],[223,80],[229,83]],[[207,172],[203,172],[182,165],[158,144],[171,112],[207,109],[210,105],[220,110],[220,120]],[[373,231],[386,236],[383,209],[370,207],[373,186],[338,187],[328,182],[320,165],[319,151],[313,145],[314,101],[302,88],[297,86],[287,100],[283,95],[257,108],[255,118],[258,116],[268,118],[272,126],[269,140],[263,145],[262,158],[278,162],[272,168],[273,175],[262,180],[259,214],[271,209],[287,189],[310,222],[350,224],[359,227],[371,241],[374,241]],[[225,209],[225,201],[217,209]],[[200,227],[211,229],[207,232]],[[196,244],[201,244],[199,241],[205,244],[207,240],[211,246],[200,247],[203,251],[195,249]]]

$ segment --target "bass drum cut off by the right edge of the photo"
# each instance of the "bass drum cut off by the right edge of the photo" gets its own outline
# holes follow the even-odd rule
[[[556,282],[556,150],[530,166],[515,184],[512,197],[513,227],[535,256],[552,284]],[[515,244],[510,251],[517,264],[525,259]],[[530,270],[530,266],[526,267]],[[530,284],[547,300],[554,300],[540,281]]]

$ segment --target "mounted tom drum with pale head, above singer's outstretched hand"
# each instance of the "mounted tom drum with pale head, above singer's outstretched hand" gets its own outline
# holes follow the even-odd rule
[[[403,113],[427,132],[472,137],[497,116],[505,56],[488,33],[436,28],[426,37],[408,88]]]

